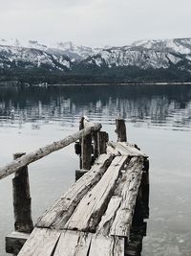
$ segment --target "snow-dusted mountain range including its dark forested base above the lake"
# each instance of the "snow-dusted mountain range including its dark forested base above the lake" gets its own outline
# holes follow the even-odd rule
[[[84,83],[191,81],[191,38],[125,46],[0,39],[0,81]]]

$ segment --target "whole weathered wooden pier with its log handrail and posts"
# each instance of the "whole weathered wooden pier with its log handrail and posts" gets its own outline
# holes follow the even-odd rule
[[[85,118],[79,131],[29,154],[14,154],[0,169],[12,180],[15,231],[6,251],[19,256],[139,256],[149,217],[149,161],[126,140],[117,119],[117,142]],[[76,181],[33,227],[28,165],[75,142]]]

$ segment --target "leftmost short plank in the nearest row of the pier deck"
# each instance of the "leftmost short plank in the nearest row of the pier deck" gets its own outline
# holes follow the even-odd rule
[[[47,228],[34,228],[19,256],[52,256],[60,232]]]

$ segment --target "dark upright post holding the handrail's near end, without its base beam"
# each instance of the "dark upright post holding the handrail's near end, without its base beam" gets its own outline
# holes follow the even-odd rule
[[[25,153],[14,153],[16,159]],[[30,184],[27,166],[15,173],[12,179],[15,231],[31,233],[33,229]]]

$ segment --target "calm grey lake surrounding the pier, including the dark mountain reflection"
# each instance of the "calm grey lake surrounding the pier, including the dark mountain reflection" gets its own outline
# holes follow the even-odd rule
[[[142,256],[191,255],[191,86],[110,85],[0,87],[0,164],[78,129],[82,115],[116,140],[115,119],[126,121],[128,141],[149,155],[150,219]],[[74,182],[74,145],[29,166],[32,218]],[[0,256],[13,230],[11,176],[0,180]]]

